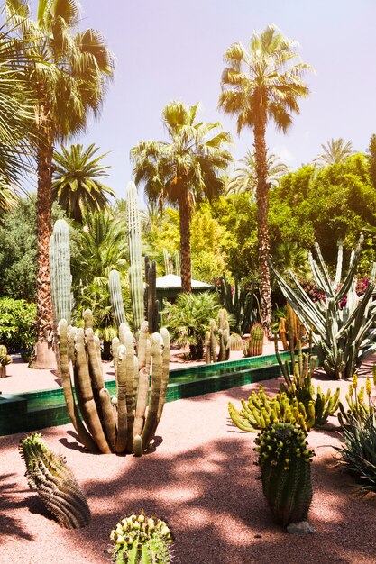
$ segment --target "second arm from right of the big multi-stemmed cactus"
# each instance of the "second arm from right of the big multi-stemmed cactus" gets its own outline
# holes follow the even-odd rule
[[[151,399],[146,415],[146,421],[142,430],[142,445],[147,449],[151,441],[152,432],[158,414],[158,405],[160,403],[160,387],[162,381],[163,359],[160,350],[160,334],[153,333],[151,335],[151,359],[152,359],[152,375],[151,375]]]

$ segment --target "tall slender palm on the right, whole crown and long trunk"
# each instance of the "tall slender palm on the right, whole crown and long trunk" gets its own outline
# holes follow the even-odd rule
[[[298,114],[298,98],[308,95],[302,74],[310,67],[294,63],[296,41],[291,41],[273,26],[254,32],[247,51],[236,42],[225,52],[227,67],[222,74],[219,106],[225,114],[237,117],[238,134],[244,127],[253,131],[256,161],[257,227],[261,275],[261,322],[271,332],[271,275],[268,230],[268,161],[265,143],[266,126],[272,120],[277,129],[286,132],[292,113]]]

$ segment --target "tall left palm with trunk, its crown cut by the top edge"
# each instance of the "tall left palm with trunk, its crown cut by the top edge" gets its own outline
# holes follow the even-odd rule
[[[87,113],[98,114],[113,59],[100,32],[78,31],[78,0],[39,0],[32,21],[28,0],[5,0],[12,22],[21,30],[20,54],[34,96],[35,154],[38,172],[37,232],[37,334],[36,368],[50,368],[54,354],[52,329],[49,241],[51,234],[51,184],[53,148],[68,135],[81,132]]]

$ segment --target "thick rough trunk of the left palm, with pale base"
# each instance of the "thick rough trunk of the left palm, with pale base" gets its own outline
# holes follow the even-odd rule
[[[37,343],[34,368],[56,368],[52,348],[52,301],[50,296],[49,244],[51,235],[51,184],[53,145],[49,127],[42,127],[39,141],[37,191]]]

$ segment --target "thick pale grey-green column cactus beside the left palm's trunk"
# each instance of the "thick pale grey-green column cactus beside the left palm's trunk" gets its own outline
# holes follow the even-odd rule
[[[63,219],[53,226],[50,237],[50,291],[55,326],[60,319],[70,323],[72,277],[70,274],[69,226]]]

